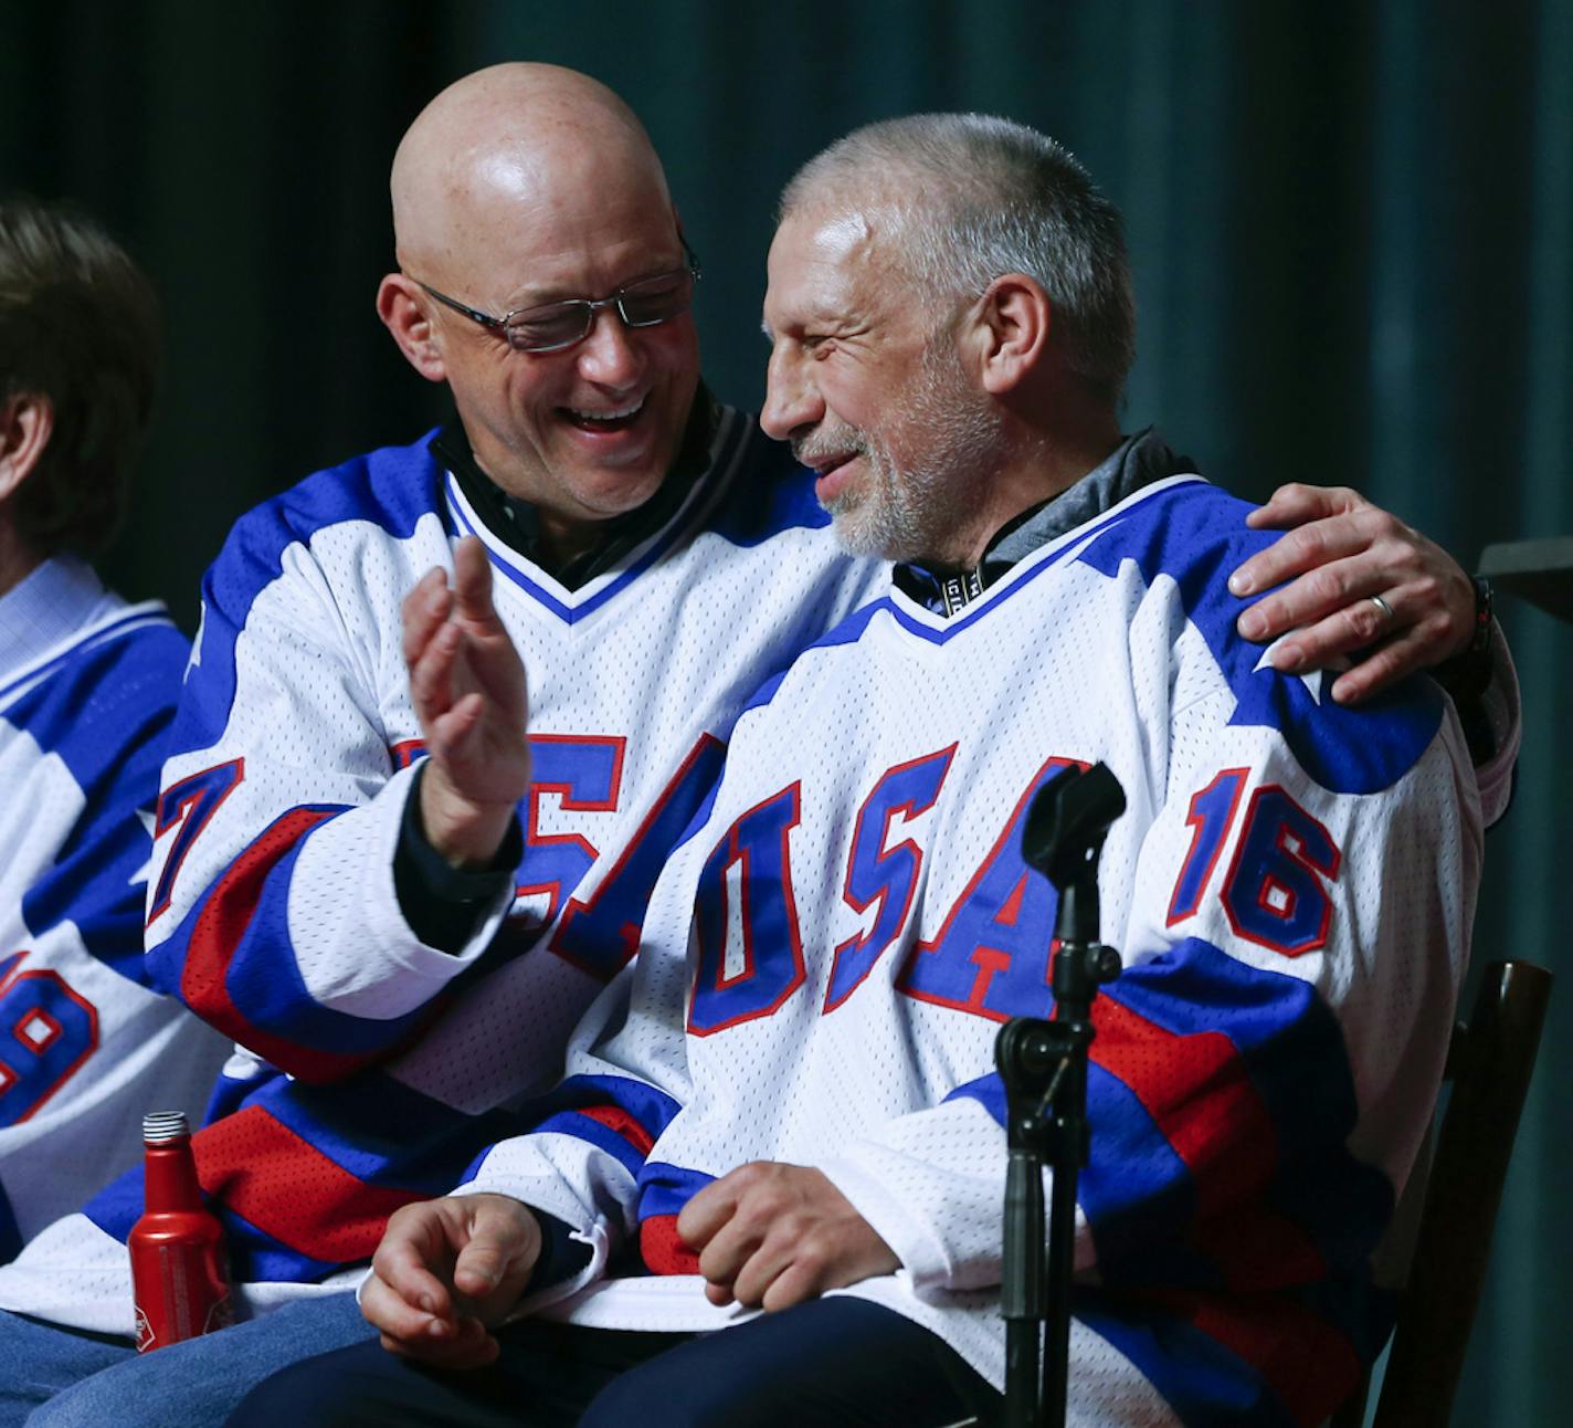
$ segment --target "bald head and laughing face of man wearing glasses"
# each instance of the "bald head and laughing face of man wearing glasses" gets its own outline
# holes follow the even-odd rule
[[[692,279],[650,137],[584,74],[497,65],[422,110],[392,191],[400,271],[378,315],[447,383],[481,471],[536,507],[557,554],[590,548],[659,488],[698,389]],[[678,294],[654,320],[607,302],[639,285],[648,302],[650,283]],[[554,304],[569,321],[580,304],[580,337],[507,335],[503,318]]]

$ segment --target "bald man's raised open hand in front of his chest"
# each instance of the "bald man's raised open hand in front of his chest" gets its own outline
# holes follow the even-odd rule
[[[431,756],[420,814],[455,866],[483,866],[530,786],[524,664],[491,600],[491,565],[473,535],[453,551],[453,586],[429,570],[404,600],[404,664]]]

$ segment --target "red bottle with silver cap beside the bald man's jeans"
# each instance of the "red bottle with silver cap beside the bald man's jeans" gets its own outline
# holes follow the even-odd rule
[[[142,1118],[148,1148],[146,1209],[131,1226],[131,1288],[137,1302],[137,1351],[160,1349],[234,1321],[223,1230],[201,1201],[186,1115],[156,1110]]]

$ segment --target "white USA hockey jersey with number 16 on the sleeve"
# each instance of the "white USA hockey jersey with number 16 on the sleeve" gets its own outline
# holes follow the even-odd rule
[[[1342,708],[1235,634],[1224,581],[1271,538],[1244,510],[1159,482],[953,617],[887,594],[761,693],[573,1075],[466,1187],[591,1247],[533,1307],[727,1323],[673,1217],[785,1160],[901,1260],[843,1293],[1000,1384],[993,1047],[1051,1009],[1055,908],[1021,825],[1104,760],[1125,970],[1095,1009],[1071,1422],[1313,1423],[1345,1397],[1386,1330],[1370,1255],[1441,1075],[1479,800],[1427,680]],[[606,1278],[635,1239],[654,1274]]]

